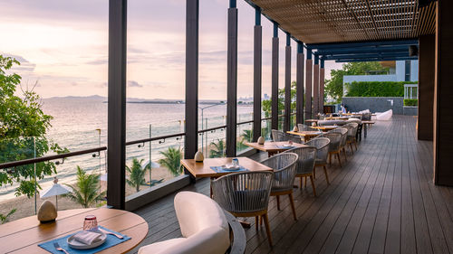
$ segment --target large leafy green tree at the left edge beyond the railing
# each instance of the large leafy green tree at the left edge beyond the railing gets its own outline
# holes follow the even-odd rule
[[[45,137],[51,127],[52,117],[45,115],[41,99],[31,90],[20,87],[21,77],[15,73],[9,74],[14,65],[19,65],[10,57],[0,55],[0,163],[13,162],[23,159],[43,156],[49,151],[56,153],[67,152]],[[17,88],[21,88],[21,96],[17,96]],[[46,175],[56,174],[52,162],[36,164],[36,180]],[[14,169],[0,170],[0,186],[19,183],[15,195],[34,195],[34,165],[17,166]]]

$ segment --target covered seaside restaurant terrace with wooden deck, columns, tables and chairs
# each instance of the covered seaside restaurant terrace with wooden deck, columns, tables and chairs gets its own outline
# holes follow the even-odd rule
[[[88,216],[94,215],[100,229],[114,234],[101,234],[106,242],[97,247],[100,253],[453,253],[449,158],[453,115],[448,111],[453,98],[449,73],[453,2],[246,3],[255,9],[255,24],[250,24],[254,25],[252,120],[237,119],[241,10],[236,0],[229,0],[226,125],[200,128],[200,3],[186,0],[184,131],[126,141],[128,1],[109,1],[107,146],[0,164],[0,169],[11,169],[107,151],[107,203],[101,208],[59,211],[56,221],[47,223],[31,216],[0,225],[0,252],[80,253],[72,252],[71,240],[82,226],[94,229]],[[262,19],[274,24],[272,38],[263,38]],[[284,38],[278,37],[279,30]],[[263,118],[261,99],[264,40],[272,40],[273,49],[269,118]],[[284,56],[278,54],[280,43],[285,45]],[[280,115],[282,57],[285,93]],[[292,58],[296,61],[294,109]],[[400,60],[419,60],[418,116],[367,108],[325,112],[326,61]],[[252,136],[244,143],[248,148],[239,153],[237,144],[243,140],[238,140],[238,129],[244,125],[251,127]],[[208,158],[205,153],[202,158],[199,152],[205,150],[200,150],[199,138],[215,131],[225,131],[225,156]],[[127,147],[151,149],[153,142],[170,139],[183,142],[184,173],[128,195]]]

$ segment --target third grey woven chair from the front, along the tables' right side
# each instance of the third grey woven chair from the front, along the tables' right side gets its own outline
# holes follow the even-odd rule
[[[312,182],[313,195],[316,196],[316,187],[314,186],[314,162],[316,159],[316,147],[304,146],[297,147],[287,151],[299,156],[295,169],[295,176],[300,179],[300,187],[302,189],[302,178],[305,178],[305,186],[307,185],[307,177],[310,177]]]

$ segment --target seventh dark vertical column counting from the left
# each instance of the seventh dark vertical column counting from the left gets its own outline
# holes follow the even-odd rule
[[[304,123],[304,42],[297,42],[295,116],[298,124]]]

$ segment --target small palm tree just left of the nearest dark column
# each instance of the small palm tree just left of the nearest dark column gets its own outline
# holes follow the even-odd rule
[[[99,193],[99,174],[86,174],[80,166],[77,166],[77,183],[66,185],[72,189],[72,193],[63,196],[82,204],[83,208],[90,207],[105,196],[105,192]]]

